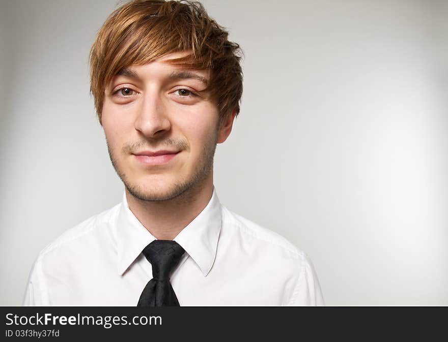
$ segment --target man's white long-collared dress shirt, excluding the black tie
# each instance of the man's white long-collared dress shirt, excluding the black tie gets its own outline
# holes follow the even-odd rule
[[[152,278],[141,253],[156,238],[123,201],[67,230],[36,259],[23,305],[136,306]],[[281,235],[231,212],[216,190],[175,238],[181,306],[323,305],[313,265]]]

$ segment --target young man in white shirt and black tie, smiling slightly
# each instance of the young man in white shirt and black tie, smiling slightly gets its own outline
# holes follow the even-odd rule
[[[239,46],[199,3],[106,20],[91,89],[123,201],[37,258],[25,305],[322,305],[310,260],[223,207],[213,156],[239,113]]]

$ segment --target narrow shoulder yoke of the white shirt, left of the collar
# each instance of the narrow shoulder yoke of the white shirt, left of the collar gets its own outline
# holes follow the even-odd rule
[[[71,241],[85,237],[89,233],[93,233],[96,229],[104,228],[111,220],[115,219],[118,211],[120,210],[120,206],[121,203],[118,203],[114,207],[95,214],[76,226],[67,229],[59,237],[43,248],[43,250],[39,253],[38,259],[45,256],[49,252],[70,243]]]

